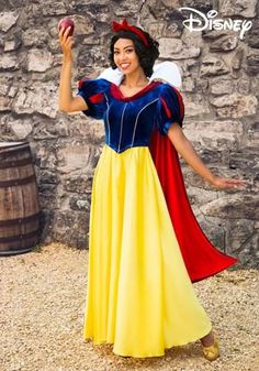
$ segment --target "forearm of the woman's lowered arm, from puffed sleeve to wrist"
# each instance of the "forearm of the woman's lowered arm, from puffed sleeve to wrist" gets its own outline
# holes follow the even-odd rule
[[[174,145],[176,150],[185,160],[185,162],[206,182],[213,183],[214,175],[209,167],[202,162],[201,157],[195,152],[191,142],[183,134],[182,129],[177,124],[171,126],[168,131],[168,137]]]

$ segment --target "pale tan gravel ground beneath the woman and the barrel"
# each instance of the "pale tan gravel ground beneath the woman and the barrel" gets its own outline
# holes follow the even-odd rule
[[[1,370],[259,370],[258,271],[228,270],[194,284],[221,338],[216,361],[203,358],[199,340],[165,357],[134,359],[82,339],[87,263],[87,250],[57,243],[0,259]]]

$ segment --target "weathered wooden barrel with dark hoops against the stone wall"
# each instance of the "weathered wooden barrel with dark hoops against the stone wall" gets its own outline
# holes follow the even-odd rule
[[[27,142],[0,143],[0,255],[31,251],[40,238],[40,205]]]

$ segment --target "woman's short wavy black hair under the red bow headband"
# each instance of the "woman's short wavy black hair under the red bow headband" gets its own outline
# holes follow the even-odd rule
[[[138,56],[139,64],[144,70],[144,74],[147,77],[150,77],[153,74],[154,63],[159,56],[159,50],[158,50],[159,43],[155,41],[147,32],[143,31],[142,29],[138,29],[138,30],[140,30],[144,33],[148,42],[148,46],[146,46],[143,43],[142,39],[134,32],[130,30],[122,30],[122,31],[116,32],[112,37],[109,59],[110,59],[112,68],[115,69],[116,65],[114,63],[114,44],[119,39],[130,39],[134,43],[135,52]]]

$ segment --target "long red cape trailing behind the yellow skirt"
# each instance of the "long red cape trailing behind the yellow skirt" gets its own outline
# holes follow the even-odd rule
[[[238,263],[218,251],[203,233],[187,195],[178,153],[168,135],[154,131],[149,145],[179,247],[192,282]]]

